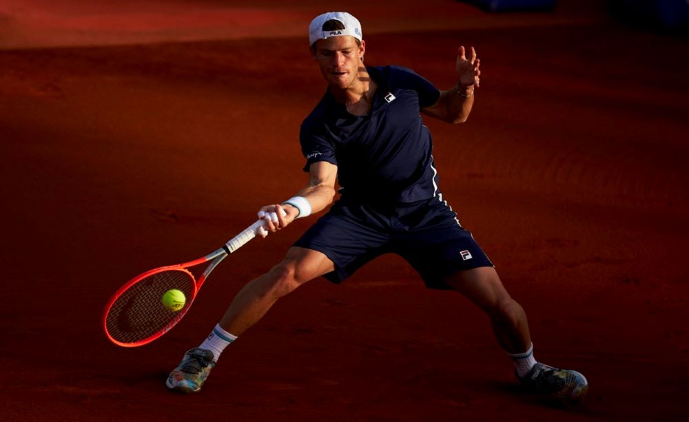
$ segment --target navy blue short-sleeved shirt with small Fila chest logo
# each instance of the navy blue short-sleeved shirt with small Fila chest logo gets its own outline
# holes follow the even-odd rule
[[[329,90],[300,130],[304,168],[327,161],[338,166],[342,198],[404,204],[438,193],[433,142],[420,110],[435,104],[440,91],[412,70],[367,67],[378,84],[371,112],[354,116]]]

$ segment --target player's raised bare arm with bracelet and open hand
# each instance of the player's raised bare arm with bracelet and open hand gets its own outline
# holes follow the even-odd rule
[[[474,101],[474,89],[479,86],[481,61],[476,50],[471,48],[471,58],[466,58],[464,46],[457,51],[455,70],[457,84],[446,91],[440,91],[440,98],[430,107],[421,109],[427,116],[439,118],[447,123],[463,123],[469,118]]]

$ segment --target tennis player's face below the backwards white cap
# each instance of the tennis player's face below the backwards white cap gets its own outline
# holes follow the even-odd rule
[[[347,89],[358,81],[364,49],[364,41],[359,46],[353,36],[331,36],[316,41],[313,58],[331,86]]]

